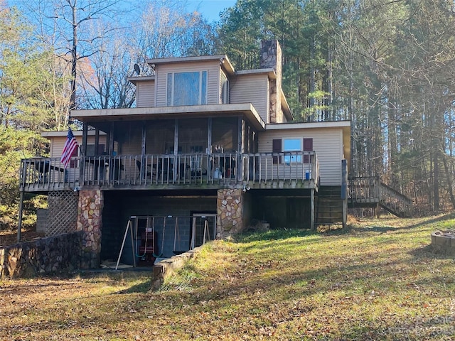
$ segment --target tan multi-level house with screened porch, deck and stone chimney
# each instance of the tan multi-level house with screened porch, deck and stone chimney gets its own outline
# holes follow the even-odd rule
[[[168,257],[256,222],[346,224],[350,122],[293,123],[281,60],[277,40],[257,70],[226,55],[147,60],[153,75],[129,78],[136,107],[71,112],[80,153],[63,169],[64,139],[45,133],[55,148],[22,161],[21,191],[48,195],[50,233],[84,232],[85,267]]]

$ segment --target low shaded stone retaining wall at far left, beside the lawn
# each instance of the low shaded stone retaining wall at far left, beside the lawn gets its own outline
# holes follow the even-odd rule
[[[0,249],[0,278],[72,271],[80,266],[82,232],[23,242]]]

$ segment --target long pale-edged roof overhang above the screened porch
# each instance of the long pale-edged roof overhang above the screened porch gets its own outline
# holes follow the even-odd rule
[[[170,118],[188,119],[190,117],[229,117],[239,115],[244,115],[255,129],[259,131],[265,130],[265,122],[251,103],[71,111],[71,117],[88,124],[100,121],[141,121]]]

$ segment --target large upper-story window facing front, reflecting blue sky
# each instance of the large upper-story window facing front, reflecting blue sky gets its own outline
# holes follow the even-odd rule
[[[168,73],[166,105],[207,104],[207,71]]]

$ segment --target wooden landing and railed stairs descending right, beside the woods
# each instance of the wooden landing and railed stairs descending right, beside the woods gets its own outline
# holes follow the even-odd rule
[[[349,178],[348,183],[348,207],[380,206],[397,217],[412,217],[412,200],[378,177]]]

